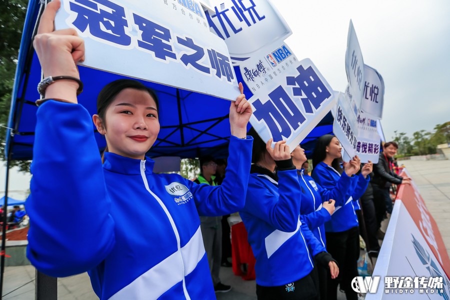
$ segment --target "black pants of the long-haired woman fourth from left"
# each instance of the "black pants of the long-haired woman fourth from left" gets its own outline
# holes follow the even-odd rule
[[[339,275],[328,279],[327,300],[337,299],[337,284],[345,291],[347,300],[357,300],[358,296],[351,288],[351,280],[358,276],[359,229],[353,227],[342,232],[325,232],[326,250],[339,264]]]

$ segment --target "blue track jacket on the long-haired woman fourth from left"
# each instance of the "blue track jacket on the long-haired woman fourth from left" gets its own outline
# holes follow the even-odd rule
[[[341,177],[339,172],[323,161],[314,167],[311,176],[315,182],[326,189],[333,188]],[[358,199],[367,188],[369,180],[370,176],[364,178],[361,174],[352,177],[350,188],[347,189],[345,196],[339,201],[335,199],[336,209],[331,219],[325,222],[326,232],[342,232],[358,225],[354,210],[360,209]]]

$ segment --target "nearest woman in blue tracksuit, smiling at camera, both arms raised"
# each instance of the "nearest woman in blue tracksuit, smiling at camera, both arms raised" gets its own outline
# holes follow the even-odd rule
[[[28,259],[51,276],[87,271],[100,299],[215,299],[198,214],[244,205],[248,102],[243,94],[231,102],[227,175],[209,186],[152,172],[145,153],[159,132],[156,95],[134,80],[111,82],[92,116],[108,148],[102,164],[91,117],[76,98],[83,40],[73,29],[53,31],[59,5],[47,4],[34,38],[44,76],[70,77],[40,86],[46,99],[37,109],[26,201]]]

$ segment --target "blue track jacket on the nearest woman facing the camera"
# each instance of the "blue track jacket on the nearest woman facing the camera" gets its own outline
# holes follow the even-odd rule
[[[198,214],[243,207],[247,138],[230,137],[222,185],[196,184],[153,173],[149,158],[106,152],[102,165],[87,110],[44,102],[26,201],[28,259],[51,276],[88,271],[100,299],[215,299]]]

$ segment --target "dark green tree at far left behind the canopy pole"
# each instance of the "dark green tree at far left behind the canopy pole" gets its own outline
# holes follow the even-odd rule
[[[4,159],[6,124],[27,0],[0,0],[0,157]],[[29,161],[13,161],[29,171]]]

